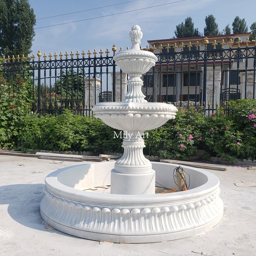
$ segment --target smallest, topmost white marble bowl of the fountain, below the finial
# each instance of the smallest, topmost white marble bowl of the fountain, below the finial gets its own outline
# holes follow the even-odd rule
[[[157,57],[152,52],[133,49],[118,52],[113,59],[116,65],[128,74],[144,74],[155,66],[157,61]]]

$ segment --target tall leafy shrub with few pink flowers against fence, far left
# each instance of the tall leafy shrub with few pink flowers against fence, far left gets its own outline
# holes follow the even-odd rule
[[[16,94],[16,92],[18,92]],[[30,74],[24,72],[8,82],[0,75],[0,146],[14,146],[32,104]]]

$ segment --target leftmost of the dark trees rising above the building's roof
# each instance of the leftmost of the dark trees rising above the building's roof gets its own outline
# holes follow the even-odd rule
[[[176,38],[183,37],[200,37],[202,34],[199,33],[198,28],[194,28],[194,23],[192,22],[191,17],[187,17],[185,19],[185,23],[181,23],[176,26],[176,30],[174,31]]]

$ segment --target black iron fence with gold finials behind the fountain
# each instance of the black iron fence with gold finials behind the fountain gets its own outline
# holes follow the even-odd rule
[[[225,44],[205,38],[203,49],[198,42],[143,49],[158,58],[155,67],[143,75],[146,99],[186,108],[203,105],[208,114],[221,105],[228,109],[229,100],[255,99],[256,42],[250,44],[247,39],[233,45],[230,39]],[[120,101],[126,92],[128,76],[115,65],[115,52],[113,45],[111,56],[108,49],[53,56],[42,56],[39,51],[37,57],[26,59],[8,56],[0,64],[0,74],[10,79],[25,66],[32,72],[34,113],[58,115],[72,109],[91,115],[94,104]]]

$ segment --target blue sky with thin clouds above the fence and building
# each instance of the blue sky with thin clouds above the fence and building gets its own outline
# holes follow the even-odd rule
[[[83,11],[106,5],[128,2],[131,0],[29,0],[31,8],[37,18],[35,25],[35,37],[32,44],[32,53],[49,52],[58,54],[60,51],[80,53],[88,49],[91,52],[102,48],[112,49],[116,44],[120,47],[130,48],[129,31],[133,25],[139,25],[143,32],[142,47],[146,47],[147,40],[168,39],[175,36],[176,25],[184,22],[190,16],[200,32],[205,26],[205,16],[213,14],[220,31],[229,23],[232,32],[232,22],[238,15],[245,18],[250,31],[250,26],[256,22],[256,1],[247,0],[246,5],[240,0],[138,0],[101,9],[80,13],[40,19],[44,17],[61,15],[70,12]],[[166,4],[171,3],[171,4]],[[142,9],[159,4],[166,4],[150,9],[128,12],[108,17],[84,20],[81,22],[40,28],[59,23],[73,22],[81,19],[94,18],[120,12]],[[112,51],[110,51],[112,52]],[[53,54],[52,54],[53,55]]]

